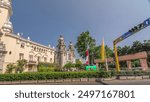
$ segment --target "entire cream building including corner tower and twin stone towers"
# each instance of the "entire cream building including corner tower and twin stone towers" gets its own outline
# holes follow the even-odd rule
[[[31,41],[13,32],[10,22],[11,0],[0,0],[0,73],[5,73],[7,65],[18,60],[27,60],[25,72],[37,71],[39,62],[56,63],[61,68],[67,62],[75,61],[74,47],[70,43],[66,50],[64,38],[60,36],[57,49]],[[2,18],[2,20],[1,20]]]

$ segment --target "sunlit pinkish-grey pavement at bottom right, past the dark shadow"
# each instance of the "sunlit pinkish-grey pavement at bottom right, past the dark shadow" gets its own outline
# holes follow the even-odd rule
[[[111,80],[103,81],[106,85],[150,85],[150,79],[147,80]]]

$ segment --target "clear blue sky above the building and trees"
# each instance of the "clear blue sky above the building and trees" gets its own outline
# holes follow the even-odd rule
[[[11,21],[15,33],[56,46],[60,35],[66,44],[89,31],[100,45],[113,47],[113,40],[150,17],[150,0],[12,0]],[[150,40],[150,27],[119,43]]]

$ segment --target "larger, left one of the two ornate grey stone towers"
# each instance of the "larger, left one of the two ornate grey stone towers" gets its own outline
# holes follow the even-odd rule
[[[61,35],[57,45],[57,64],[63,68],[67,60],[66,45],[63,36]]]

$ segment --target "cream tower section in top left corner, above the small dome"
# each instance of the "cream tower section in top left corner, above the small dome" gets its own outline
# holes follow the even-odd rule
[[[12,15],[12,0],[0,0],[0,32]]]

